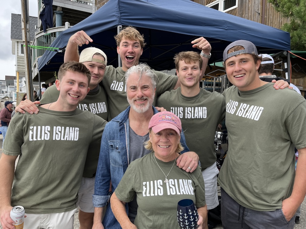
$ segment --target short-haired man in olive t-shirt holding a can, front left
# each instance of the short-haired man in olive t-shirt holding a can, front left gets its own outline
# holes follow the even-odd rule
[[[24,229],[73,229],[88,147],[99,152],[106,121],[77,109],[90,90],[91,74],[84,64],[62,64],[58,77],[58,100],[38,106],[37,115],[17,113],[8,129],[0,158],[3,229],[15,228],[9,217],[14,205],[25,209]]]

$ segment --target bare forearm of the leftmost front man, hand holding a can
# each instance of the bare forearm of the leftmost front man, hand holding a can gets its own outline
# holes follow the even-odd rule
[[[15,229],[9,213],[12,210],[11,192],[17,156],[1,155],[0,158],[0,221],[3,229]]]

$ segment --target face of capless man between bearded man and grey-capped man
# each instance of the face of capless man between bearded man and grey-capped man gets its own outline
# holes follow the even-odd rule
[[[180,79],[181,87],[199,87],[199,79],[202,75],[199,62],[186,64],[184,60],[180,60],[176,70],[177,76]]]

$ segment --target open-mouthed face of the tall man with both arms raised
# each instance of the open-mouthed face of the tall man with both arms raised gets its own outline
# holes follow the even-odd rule
[[[126,71],[130,67],[137,65],[143,49],[139,40],[122,39],[117,46],[117,53],[120,54],[122,70]]]

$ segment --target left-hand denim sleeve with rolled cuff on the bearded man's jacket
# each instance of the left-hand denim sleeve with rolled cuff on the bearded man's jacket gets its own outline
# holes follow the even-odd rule
[[[94,207],[104,207],[110,199],[110,151],[107,140],[107,127],[108,125],[106,125],[102,135],[98,168],[95,177],[95,192],[92,195]]]

